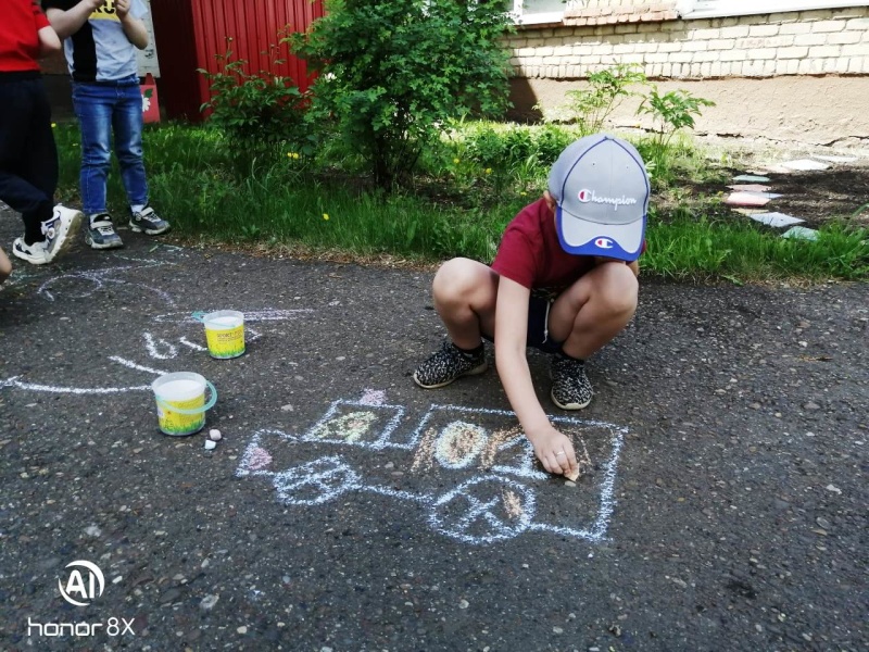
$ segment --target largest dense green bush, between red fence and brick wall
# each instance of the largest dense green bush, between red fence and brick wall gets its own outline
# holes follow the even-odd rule
[[[509,26],[498,2],[327,0],[286,40],[319,73],[312,123],[333,122],[391,189],[452,120],[505,109]]]

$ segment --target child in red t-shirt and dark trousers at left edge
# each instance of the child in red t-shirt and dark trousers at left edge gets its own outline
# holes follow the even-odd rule
[[[51,106],[37,59],[60,50],[58,35],[35,0],[4,0],[0,20],[0,200],[24,221],[12,253],[35,265],[50,263],[72,242],[78,211],[54,205],[58,150]],[[12,264],[0,249],[0,283]]]

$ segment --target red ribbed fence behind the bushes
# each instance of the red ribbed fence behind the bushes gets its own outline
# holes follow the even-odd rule
[[[304,62],[278,50],[275,65],[269,46],[289,27],[304,32],[323,16],[322,0],[151,0],[154,40],[160,60],[160,101],[171,118],[199,121],[200,105],[209,99],[207,80],[197,68],[217,72],[215,59],[227,49],[248,62],[248,71],[268,71],[291,77],[301,89],[308,86]],[[231,38],[231,43],[227,43]]]

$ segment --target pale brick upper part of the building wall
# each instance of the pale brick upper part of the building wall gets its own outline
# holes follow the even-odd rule
[[[869,74],[869,7],[683,21],[673,2],[589,0],[509,38],[519,77],[637,63],[652,79]]]

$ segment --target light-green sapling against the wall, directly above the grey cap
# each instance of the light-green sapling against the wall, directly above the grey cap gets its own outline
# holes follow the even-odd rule
[[[587,88],[567,91],[565,95],[570,101],[566,110],[576,120],[582,135],[596,134],[626,98],[640,95],[630,87],[647,83],[639,64],[620,63],[591,73]]]

